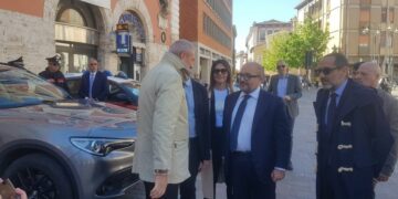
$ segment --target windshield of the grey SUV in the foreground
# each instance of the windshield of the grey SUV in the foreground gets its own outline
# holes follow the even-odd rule
[[[0,108],[65,100],[67,94],[24,70],[0,67]]]

